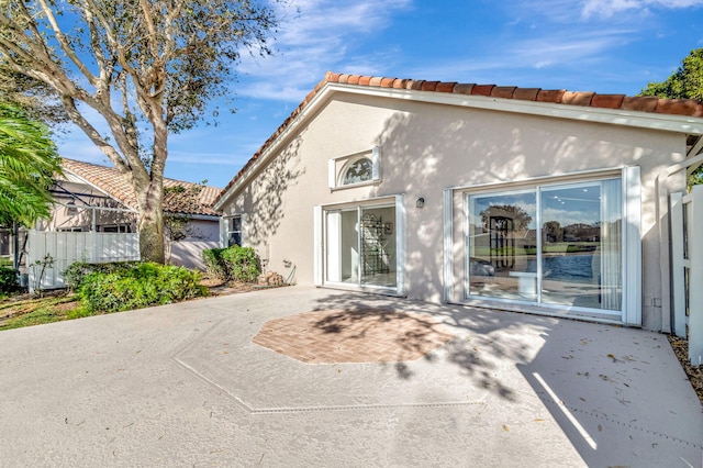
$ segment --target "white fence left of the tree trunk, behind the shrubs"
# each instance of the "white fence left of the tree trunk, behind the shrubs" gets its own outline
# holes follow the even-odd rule
[[[98,264],[140,259],[138,234],[32,230],[29,236],[26,268],[31,291],[63,288],[63,271],[76,261]]]

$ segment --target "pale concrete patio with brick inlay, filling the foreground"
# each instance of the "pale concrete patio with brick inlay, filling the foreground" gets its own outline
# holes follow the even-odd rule
[[[2,467],[703,464],[663,335],[304,287],[0,332],[0,395]]]

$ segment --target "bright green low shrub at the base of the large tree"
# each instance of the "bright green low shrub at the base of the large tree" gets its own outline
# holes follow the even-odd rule
[[[168,304],[205,296],[200,274],[182,267],[138,264],[112,272],[91,272],[82,278],[78,294],[90,312],[120,312]]]

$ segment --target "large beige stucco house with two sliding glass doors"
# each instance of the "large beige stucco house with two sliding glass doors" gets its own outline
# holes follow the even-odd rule
[[[693,100],[328,73],[214,208],[298,283],[668,331],[668,193],[702,116]]]

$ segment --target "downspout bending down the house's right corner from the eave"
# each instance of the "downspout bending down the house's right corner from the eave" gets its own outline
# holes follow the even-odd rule
[[[698,143],[692,148],[691,153],[700,151],[703,145],[703,140],[699,138]],[[671,333],[671,314],[673,313],[671,308],[671,221],[669,220],[669,177],[676,172],[687,169],[690,166],[703,163],[703,153],[698,154],[691,158],[683,159],[681,163],[677,163],[667,167],[663,171],[659,172],[655,179],[655,189],[657,192],[657,223],[659,224],[659,270],[661,275],[661,331],[663,333]],[[667,222],[663,223],[662,219],[667,216]],[[656,305],[656,304],[652,304]]]

